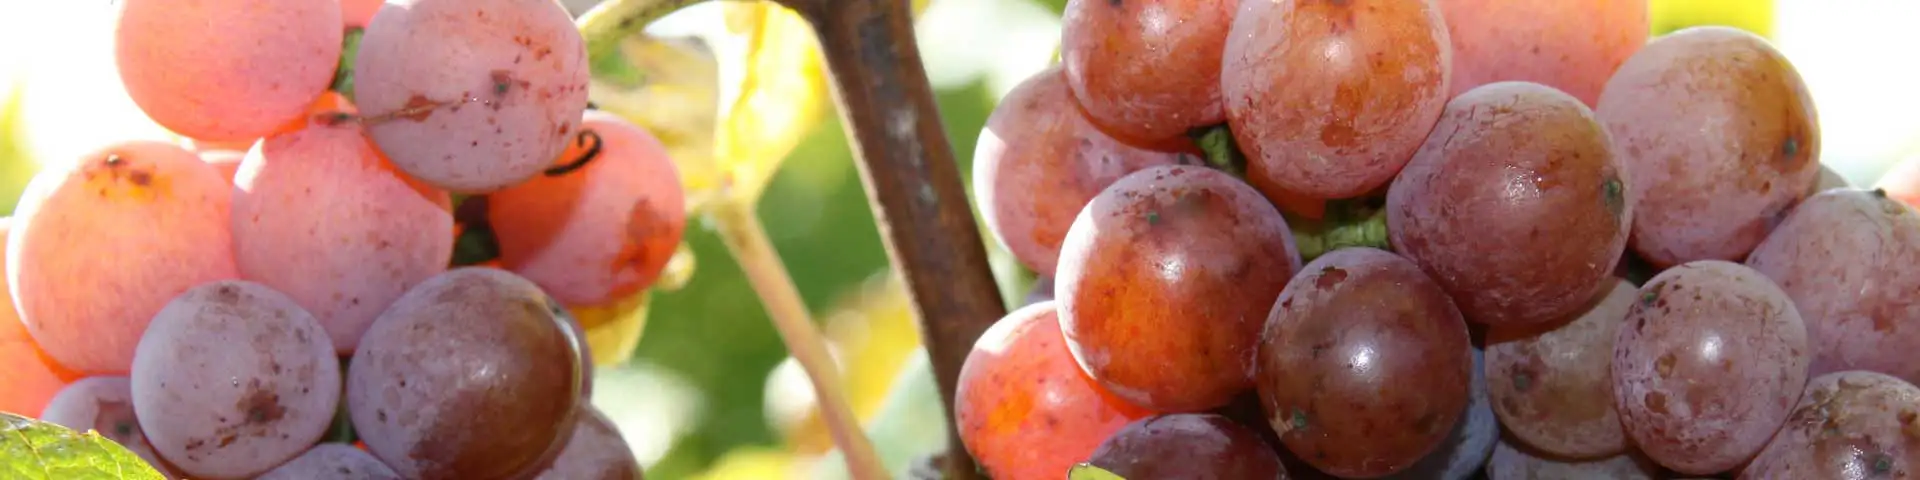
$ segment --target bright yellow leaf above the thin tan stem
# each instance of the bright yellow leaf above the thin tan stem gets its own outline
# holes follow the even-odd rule
[[[724,4],[728,29],[745,35],[745,73],[720,117],[714,157],[722,188],[758,200],[780,161],[820,123],[826,65],[804,17],[774,2]]]

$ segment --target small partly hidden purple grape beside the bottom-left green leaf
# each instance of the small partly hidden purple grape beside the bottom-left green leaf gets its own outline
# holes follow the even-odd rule
[[[169,472],[169,465],[161,463],[159,455],[154,455],[154,445],[146,442],[140,419],[132,411],[132,380],[127,376],[90,376],[69,384],[46,403],[40,420],[73,428],[75,432],[96,430],[100,436],[138,455],[156,470],[161,470],[169,478],[179,478],[177,472]]]

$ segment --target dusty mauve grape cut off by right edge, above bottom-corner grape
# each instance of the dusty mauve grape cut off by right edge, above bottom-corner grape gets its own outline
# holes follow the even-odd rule
[[[1920,213],[1874,190],[1801,202],[1747,267],[1780,284],[1807,323],[1812,371],[1920,380]]]

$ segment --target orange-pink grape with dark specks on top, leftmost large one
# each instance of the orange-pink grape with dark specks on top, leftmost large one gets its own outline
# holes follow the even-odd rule
[[[173,144],[132,140],[50,163],[13,209],[6,276],[19,319],[60,365],[125,374],[154,313],[236,278],[232,184]]]

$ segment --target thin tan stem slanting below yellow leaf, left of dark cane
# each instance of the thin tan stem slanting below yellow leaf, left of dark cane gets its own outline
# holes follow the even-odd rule
[[[760,303],[766,307],[766,315],[772,317],[774,328],[780,330],[780,338],[787,344],[787,351],[793,353],[793,359],[801,363],[801,369],[812,380],[820,419],[826,420],[833,444],[845,455],[847,470],[852,472],[852,478],[860,480],[889,478],[887,468],[881,467],[879,455],[874,451],[874,442],[860,430],[860,420],[847,403],[839,367],[828,353],[826,340],[822,340],[820,328],[814,326],[806,303],[801,301],[801,292],[793,286],[793,276],[787,275],[787,267],[781,263],[780,252],[774,250],[774,242],[766,236],[766,227],[755,215],[753,204],[730,196],[714,204],[708,213],[718,225],[720,240],[726,242],[728,252],[733,253],[741,271],[747,273],[747,282],[760,296]]]

